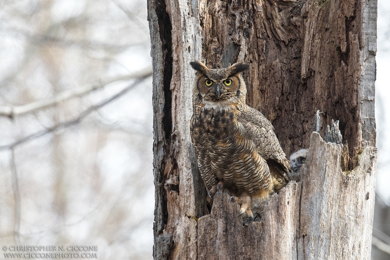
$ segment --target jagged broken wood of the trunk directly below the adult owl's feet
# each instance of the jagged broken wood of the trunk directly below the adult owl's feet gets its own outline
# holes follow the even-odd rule
[[[210,215],[198,220],[198,260],[286,259],[297,255],[300,183],[290,182],[269,201],[261,222],[242,225],[239,206],[216,195]]]

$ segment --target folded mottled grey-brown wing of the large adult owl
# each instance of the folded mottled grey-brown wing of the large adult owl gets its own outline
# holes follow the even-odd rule
[[[238,121],[243,125],[246,135],[257,145],[257,152],[267,160],[270,171],[289,181],[290,161],[273,132],[273,125],[256,109],[246,106],[240,109]]]

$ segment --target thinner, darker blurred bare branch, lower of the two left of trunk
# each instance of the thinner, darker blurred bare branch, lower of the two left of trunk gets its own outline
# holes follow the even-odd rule
[[[107,100],[103,100],[101,102],[99,102],[98,104],[96,105],[93,105],[91,107],[89,107],[88,109],[86,109],[85,111],[83,111],[81,114],[79,114],[79,116],[73,120],[68,120],[68,121],[65,121],[65,122],[61,122],[53,127],[50,127],[50,128],[47,128],[43,131],[39,131],[35,134],[31,134],[21,140],[18,140],[18,141],[15,141],[14,143],[11,143],[11,144],[8,144],[8,145],[3,145],[3,146],[0,146],[0,151],[1,150],[8,150],[8,149],[13,149],[14,147],[22,144],[22,143],[25,143],[29,140],[33,140],[33,139],[36,139],[36,138],[39,138],[41,136],[44,136],[48,133],[52,133],[52,132],[55,132],[57,130],[60,130],[60,129],[64,129],[64,128],[67,128],[69,126],[72,126],[74,124],[77,124],[79,123],[82,119],[84,119],[86,116],[88,116],[89,114],[91,114],[93,111],[97,110],[97,109],[100,109],[101,107],[103,107],[104,105],[110,103],[111,101],[113,100],[116,100],[117,98],[119,98],[120,96],[126,94],[127,92],[129,92],[131,89],[133,89],[134,87],[137,86],[138,83],[140,83],[141,81],[149,78],[151,76],[151,74],[145,74],[144,76],[142,77],[139,77],[135,82],[133,82],[132,84],[130,84],[129,86],[127,86],[125,89],[121,90],[120,92],[118,92],[117,94],[115,94],[114,96],[112,96],[111,98],[107,99]]]

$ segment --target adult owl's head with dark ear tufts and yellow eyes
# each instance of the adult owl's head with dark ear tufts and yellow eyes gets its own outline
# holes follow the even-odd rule
[[[241,72],[249,69],[248,64],[239,62],[223,69],[209,69],[199,61],[190,64],[198,72],[194,88],[196,103],[235,103],[238,100],[246,103],[247,88]]]

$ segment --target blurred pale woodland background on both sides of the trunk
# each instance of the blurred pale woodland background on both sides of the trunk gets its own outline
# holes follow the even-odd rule
[[[390,244],[389,12],[378,0],[378,246]],[[98,245],[102,260],[152,259],[151,79],[76,95],[148,75],[146,13],[146,0],[0,2],[0,112],[75,94],[0,116],[1,245]],[[373,246],[372,259],[390,255]]]

